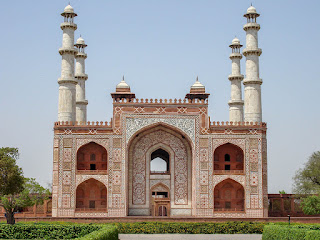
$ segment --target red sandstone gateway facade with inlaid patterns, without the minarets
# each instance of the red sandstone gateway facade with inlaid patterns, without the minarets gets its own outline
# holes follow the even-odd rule
[[[110,122],[56,122],[52,216],[267,217],[266,124],[210,122],[196,94],[117,91]]]

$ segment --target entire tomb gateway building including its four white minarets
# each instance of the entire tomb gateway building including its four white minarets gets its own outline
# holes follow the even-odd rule
[[[209,94],[198,79],[182,100],[138,99],[122,79],[111,93],[111,121],[87,122],[87,45],[81,37],[74,43],[74,9],[68,5],[61,15],[53,217],[268,216],[262,51],[259,14],[253,6],[244,14],[244,50],[240,52],[237,38],[230,45],[228,122],[210,121]],[[242,55],[245,77],[240,71]]]

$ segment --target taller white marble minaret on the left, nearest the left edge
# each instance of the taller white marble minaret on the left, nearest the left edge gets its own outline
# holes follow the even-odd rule
[[[77,50],[74,48],[74,31],[77,25],[73,22],[77,14],[73,8],[68,5],[61,15],[64,22],[60,27],[63,30],[62,47],[59,53],[62,56],[61,77],[59,83],[59,110],[58,121],[76,120],[76,84],[74,77],[74,55]]]

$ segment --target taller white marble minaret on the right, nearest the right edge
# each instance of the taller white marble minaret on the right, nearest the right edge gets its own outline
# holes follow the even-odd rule
[[[251,6],[248,8],[244,17],[247,18],[247,24],[243,29],[246,31],[246,48],[243,55],[246,57],[246,77],[244,84],[244,119],[246,122],[261,122],[261,84],[259,76],[259,56],[262,50],[258,48],[258,31],[260,25],[257,23],[257,17],[260,14]]]

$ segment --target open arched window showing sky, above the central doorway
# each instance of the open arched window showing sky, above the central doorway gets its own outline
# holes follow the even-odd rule
[[[151,153],[150,173],[166,174],[170,172],[170,156],[169,153],[162,148]]]

